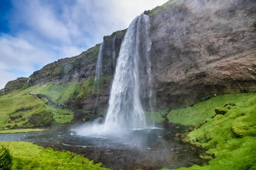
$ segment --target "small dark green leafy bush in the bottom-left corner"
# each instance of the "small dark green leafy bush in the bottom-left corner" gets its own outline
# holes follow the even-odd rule
[[[12,156],[9,150],[9,145],[0,149],[0,170],[10,170],[12,168]]]

